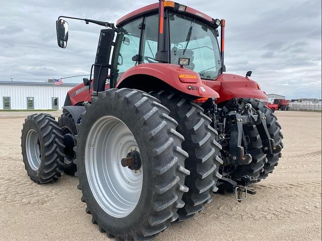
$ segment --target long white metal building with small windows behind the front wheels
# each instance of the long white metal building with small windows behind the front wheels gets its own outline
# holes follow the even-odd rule
[[[0,109],[60,109],[76,83],[0,81]]]

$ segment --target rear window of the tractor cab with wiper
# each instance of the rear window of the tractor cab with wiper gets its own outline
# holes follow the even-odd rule
[[[189,58],[185,66],[203,79],[216,79],[221,73],[221,60],[215,30],[206,24],[169,13],[172,64]]]

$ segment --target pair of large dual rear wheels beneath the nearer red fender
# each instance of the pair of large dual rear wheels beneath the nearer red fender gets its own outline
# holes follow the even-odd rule
[[[100,93],[86,109],[76,137],[86,140],[77,142],[76,174],[101,231],[150,239],[211,201],[221,147],[200,106],[169,92],[124,88]],[[133,150],[140,165],[124,167]]]

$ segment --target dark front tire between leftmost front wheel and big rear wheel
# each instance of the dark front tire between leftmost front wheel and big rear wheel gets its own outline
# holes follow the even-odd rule
[[[58,119],[58,125],[61,128],[61,134],[64,137],[64,154],[65,156],[61,156],[61,162],[64,165],[64,173],[70,176],[74,176],[77,171],[76,164],[74,164],[74,160],[76,158],[76,154],[73,148],[76,146],[76,140],[74,136],[77,135],[77,128],[75,122],[69,112],[62,113],[60,118]]]

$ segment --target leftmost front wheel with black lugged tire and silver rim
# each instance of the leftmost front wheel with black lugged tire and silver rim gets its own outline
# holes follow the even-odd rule
[[[55,118],[49,114],[32,114],[25,119],[21,148],[25,169],[38,184],[56,181],[63,170],[63,137]]]

